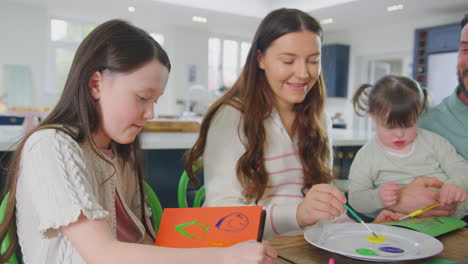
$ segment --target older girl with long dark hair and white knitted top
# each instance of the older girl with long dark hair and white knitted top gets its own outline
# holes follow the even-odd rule
[[[0,228],[13,243],[0,262],[17,239],[25,263],[274,262],[275,251],[256,242],[152,246],[139,133],[170,68],[161,46],[124,21],[106,22],[83,40],[58,104],[15,152]]]

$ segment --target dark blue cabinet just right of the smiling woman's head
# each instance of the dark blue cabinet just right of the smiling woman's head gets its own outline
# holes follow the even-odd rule
[[[322,71],[328,97],[346,97],[348,91],[349,46],[322,46]]]

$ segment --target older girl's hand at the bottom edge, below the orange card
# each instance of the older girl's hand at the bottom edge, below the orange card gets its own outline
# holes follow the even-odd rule
[[[222,263],[229,264],[274,264],[278,256],[276,250],[265,243],[250,240],[223,248]]]

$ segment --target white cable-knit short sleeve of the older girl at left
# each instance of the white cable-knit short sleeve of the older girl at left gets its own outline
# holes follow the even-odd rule
[[[40,130],[26,141],[21,153],[18,188],[30,193],[39,231],[55,236],[81,213],[100,219],[108,212],[98,202],[99,184],[85,163],[80,145],[55,129]]]

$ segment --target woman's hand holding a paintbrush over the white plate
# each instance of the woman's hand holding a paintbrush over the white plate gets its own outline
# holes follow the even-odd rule
[[[331,184],[316,184],[297,206],[296,220],[300,227],[315,224],[320,219],[333,219],[346,212],[346,197]]]

